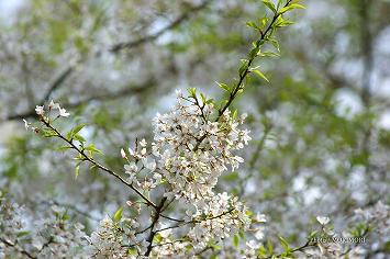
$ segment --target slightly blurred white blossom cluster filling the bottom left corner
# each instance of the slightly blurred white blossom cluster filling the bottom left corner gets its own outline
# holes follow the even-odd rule
[[[36,218],[16,203],[0,201],[0,258],[74,258],[86,236],[81,224],[71,224],[65,210],[52,207]]]

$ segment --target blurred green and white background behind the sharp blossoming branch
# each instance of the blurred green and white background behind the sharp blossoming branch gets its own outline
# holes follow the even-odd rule
[[[281,57],[258,61],[233,106],[248,113],[246,162],[218,189],[267,215],[266,236],[301,244],[316,215],[345,228],[354,210],[390,203],[390,1],[307,0],[297,23],[278,34]],[[0,0],[0,189],[32,213],[52,204],[75,221],[97,221],[131,199],[82,167],[59,144],[26,132],[35,105],[70,111],[64,131],[103,150],[123,171],[120,148],[153,139],[152,120],[174,104],[175,89],[223,98],[257,21],[257,0]],[[369,238],[370,256],[390,237]]]

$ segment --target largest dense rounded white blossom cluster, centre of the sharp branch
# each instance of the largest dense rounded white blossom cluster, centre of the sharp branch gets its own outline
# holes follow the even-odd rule
[[[227,166],[238,168],[244,159],[234,151],[247,145],[250,137],[247,130],[239,128],[244,117],[235,120],[226,110],[218,121],[211,121],[215,111],[212,103],[192,97],[186,99],[190,104],[183,105],[183,100],[178,92],[172,111],[155,117],[153,155],[171,187],[167,195],[196,201],[212,193]]]

